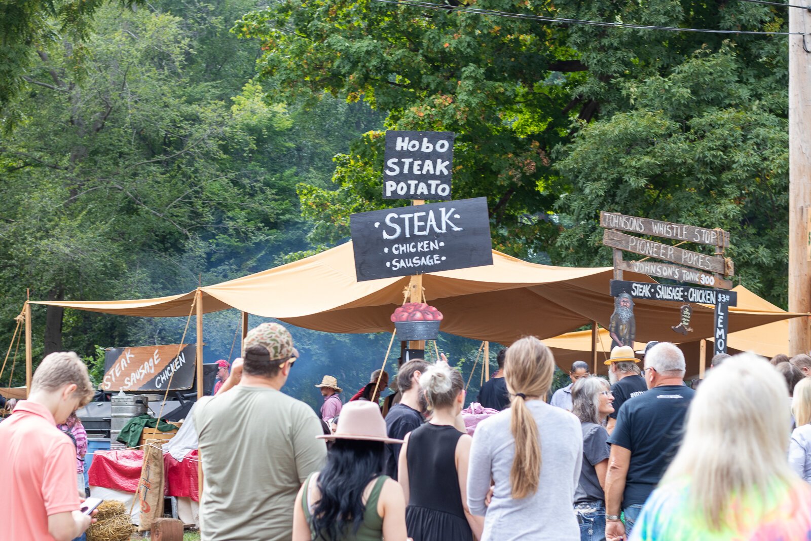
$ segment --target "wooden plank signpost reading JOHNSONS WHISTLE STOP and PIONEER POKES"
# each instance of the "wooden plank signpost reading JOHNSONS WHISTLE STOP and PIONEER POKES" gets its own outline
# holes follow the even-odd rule
[[[611,295],[618,297],[620,294],[625,294],[626,298],[630,296],[633,298],[673,301],[682,304],[702,303],[714,305],[714,354],[726,353],[729,307],[735,306],[737,301],[736,293],[727,291],[732,289],[732,281],[726,278],[735,275],[735,265],[732,260],[723,255],[724,248],[729,247],[729,234],[722,229],[674,224],[668,221],[625,216],[618,213],[600,213],[600,225],[605,228],[603,244],[614,249],[614,280],[611,281]],[[710,245],[715,247],[715,253],[714,255],[706,255],[698,251],[684,250],[684,248],[622,233],[622,231],[671,238],[681,241],[679,244]],[[622,251],[629,251],[645,257],[639,261],[624,261]],[[649,258],[670,263],[649,261]],[[624,270],[672,281],[709,286],[714,289],[623,281],[622,273]],[[630,302],[626,302],[626,305],[628,303]],[[633,309],[633,303],[631,306]],[[685,308],[689,309],[689,306]],[[626,311],[628,309],[628,307],[625,308]],[[685,317],[689,320],[689,314]],[[625,319],[628,319],[627,314]],[[633,315],[631,319],[633,320]],[[631,328],[634,328],[633,325]],[[689,332],[685,325],[674,327],[674,330],[679,330],[682,333]],[[631,339],[633,341],[633,337]],[[701,371],[703,372],[703,367]]]

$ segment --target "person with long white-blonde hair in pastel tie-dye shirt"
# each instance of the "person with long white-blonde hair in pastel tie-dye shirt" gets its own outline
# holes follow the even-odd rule
[[[753,354],[710,370],[631,541],[811,541],[811,487],[786,459],[786,395]]]

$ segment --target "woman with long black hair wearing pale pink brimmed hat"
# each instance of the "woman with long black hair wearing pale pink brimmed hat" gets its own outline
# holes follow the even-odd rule
[[[380,408],[352,401],[341,410],[327,464],[296,496],[294,541],[405,541],[402,487],[383,472],[386,436]]]

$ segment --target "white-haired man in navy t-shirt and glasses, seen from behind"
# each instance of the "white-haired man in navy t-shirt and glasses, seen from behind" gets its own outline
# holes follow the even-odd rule
[[[648,350],[642,373],[650,390],[625,402],[608,437],[607,541],[629,539],[642,505],[679,449],[684,417],[695,394],[684,385],[684,354],[670,342]]]

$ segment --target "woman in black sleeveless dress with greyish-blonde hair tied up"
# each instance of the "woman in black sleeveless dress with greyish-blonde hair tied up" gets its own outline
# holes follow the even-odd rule
[[[465,384],[448,363],[429,367],[419,384],[432,416],[405,436],[400,452],[398,477],[408,502],[405,526],[414,541],[470,541],[482,535],[483,518],[467,512],[463,492],[472,438],[453,426],[465,401]]]

